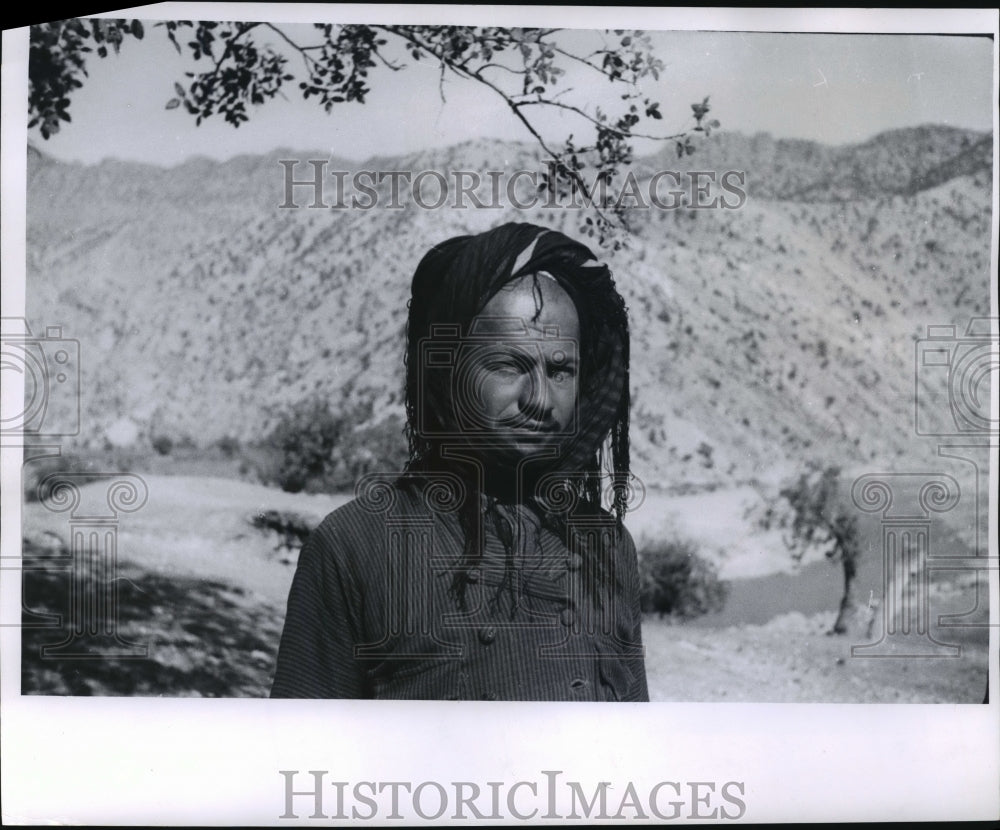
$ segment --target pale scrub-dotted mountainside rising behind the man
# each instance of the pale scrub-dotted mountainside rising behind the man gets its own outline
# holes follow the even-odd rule
[[[281,150],[163,169],[29,152],[28,320],[80,342],[79,443],[100,446],[123,422],[147,444],[253,441],[313,395],[399,416],[423,253],[503,221],[581,237],[586,216],[507,199],[425,209],[405,187],[393,208],[389,182],[370,210],[308,207],[301,186],[299,207],[282,208],[279,161],[292,158],[305,180],[304,161],[327,157]],[[711,484],[812,456],[931,457],[913,429],[915,342],[928,325],[964,331],[989,313],[991,164],[988,134],[940,126],[844,147],[716,132],[683,160],[636,162],[643,186],[659,170],[685,181],[735,170],[746,192],[732,210],[637,207],[625,249],[595,248],[631,312],[637,472]],[[486,171],[508,182],[544,168],[534,147],[474,141],[330,159],[324,172],[366,169],[478,171],[489,205]],[[433,203],[436,180],[424,178]],[[324,181],[335,203],[335,179]]]

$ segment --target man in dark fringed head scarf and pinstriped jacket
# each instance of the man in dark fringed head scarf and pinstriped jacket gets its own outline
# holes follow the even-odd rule
[[[523,223],[436,245],[405,365],[409,460],[303,546],[271,696],[648,700],[609,269]]]

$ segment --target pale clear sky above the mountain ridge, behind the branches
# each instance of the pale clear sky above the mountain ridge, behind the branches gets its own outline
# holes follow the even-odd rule
[[[523,12],[522,12],[523,13]],[[530,22],[530,21],[529,21]],[[302,42],[311,27],[284,24]],[[604,36],[568,31],[567,48],[591,49]],[[665,70],[644,88],[661,101],[667,132],[693,126],[690,104],[710,96],[710,117],[722,129],[828,144],[864,141],[887,129],[925,123],[990,130],[995,96],[993,42],[985,37],[912,34],[798,34],[767,32],[653,32]],[[442,79],[426,62],[390,52],[405,69],[373,70],[364,105],[342,104],[327,114],[303,101],[294,84],[287,98],[258,108],[234,129],[218,117],[196,127],[183,108],[167,110],[173,86],[195,68],[177,55],[162,28],[146,26],[120,55],[91,57],[89,78],[74,95],[73,121],[44,140],[29,140],[56,158],[94,163],[119,158],[174,165],[202,155],[226,159],[283,147],[322,150],[360,161],[401,155],[475,138],[530,140],[524,127],[489,90]],[[293,68],[298,67],[292,57]],[[578,71],[579,70],[579,71]],[[587,70],[571,69],[560,84],[567,102],[614,111],[614,87]],[[538,115],[547,138],[561,143],[584,125],[560,114]],[[652,142],[637,152],[652,152]]]

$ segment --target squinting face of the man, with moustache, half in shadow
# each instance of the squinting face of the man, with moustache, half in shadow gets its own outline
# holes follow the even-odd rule
[[[545,274],[515,280],[486,304],[472,331],[481,345],[473,347],[467,400],[474,400],[492,448],[523,458],[571,434],[580,325],[559,284]]]

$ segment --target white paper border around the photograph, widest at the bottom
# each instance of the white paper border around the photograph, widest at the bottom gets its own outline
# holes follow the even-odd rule
[[[273,15],[273,16],[272,16]],[[606,9],[569,7],[324,6],[167,3],[114,15],[151,18],[338,22],[448,22],[581,28],[810,32],[984,32],[995,10]],[[3,36],[3,315],[24,316],[27,30]],[[996,96],[993,133],[997,134]],[[997,147],[994,140],[992,268],[997,270]],[[991,316],[996,317],[993,286]],[[997,415],[997,390],[993,415]],[[21,391],[3,389],[5,410]],[[3,448],[3,562],[20,539],[20,451]],[[997,458],[990,504],[998,503]],[[995,516],[994,516],[995,520]],[[997,556],[991,522],[990,554]],[[5,823],[275,825],[281,770],[329,771],[344,782],[534,782],[558,771],[586,792],[601,781],[619,795],[629,783],[740,782],[738,819],[762,821],[975,820],[1000,816],[1000,596],[990,593],[988,705],[398,703],[362,701],[43,698],[19,694],[19,575],[0,573],[2,776]],[[297,781],[302,784],[302,781]],[[541,809],[522,788],[526,812]],[[328,795],[329,795],[328,791]],[[562,798],[562,796],[560,796]],[[618,803],[616,798],[611,800]],[[433,799],[430,800],[431,802]],[[690,799],[689,799],[690,801]],[[506,803],[506,802],[504,802]],[[408,804],[408,802],[407,802]],[[713,803],[714,804],[714,803]],[[734,802],[729,806],[733,807]],[[715,805],[717,806],[717,805]],[[706,808],[707,809],[707,808]],[[332,814],[332,808],[327,810]],[[560,801],[556,810],[566,815]],[[679,823],[684,820],[682,816]],[[407,812],[406,819],[421,821]],[[725,817],[725,816],[721,816]],[[381,814],[360,824],[393,823]],[[456,821],[451,814],[441,821]],[[328,823],[328,822],[327,822]],[[505,811],[489,823],[525,821]]]

